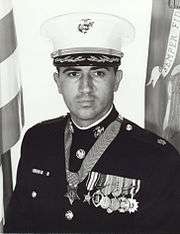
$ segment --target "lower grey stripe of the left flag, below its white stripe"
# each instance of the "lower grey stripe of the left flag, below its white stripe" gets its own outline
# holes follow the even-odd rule
[[[20,90],[12,101],[0,108],[0,155],[9,150],[19,139],[24,124],[22,107],[22,90]]]

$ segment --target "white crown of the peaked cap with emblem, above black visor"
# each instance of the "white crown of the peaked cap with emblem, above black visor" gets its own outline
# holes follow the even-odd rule
[[[116,15],[76,12],[46,20],[41,34],[53,43],[52,57],[79,53],[122,57],[121,48],[134,40],[135,28]]]

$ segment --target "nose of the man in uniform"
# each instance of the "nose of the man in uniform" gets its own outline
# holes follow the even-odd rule
[[[88,94],[93,90],[93,81],[89,74],[84,74],[79,80],[79,92]]]

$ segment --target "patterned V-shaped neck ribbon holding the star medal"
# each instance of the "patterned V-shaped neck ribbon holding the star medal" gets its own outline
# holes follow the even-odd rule
[[[95,166],[97,161],[100,159],[104,151],[108,148],[111,142],[115,139],[119,133],[122,123],[122,118],[117,117],[99,136],[95,144],[92,146],[85,159],[83,160],[81,167],[77,173],[69,171],[69,157],[70,148],[72,144],[72,130],[70,127],[70,120],[67,121],[65,133],[64,133],[64,144],[65,144],[65,165],[66,165],[66,178],[69,186],[77,187],[81,183],[88,173]]]

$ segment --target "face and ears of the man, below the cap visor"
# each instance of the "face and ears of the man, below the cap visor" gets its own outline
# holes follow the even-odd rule
[[[73,120],[88,126],[111,107],[121,76],[113,67],[73,66],[60,67],[54,78]]]

